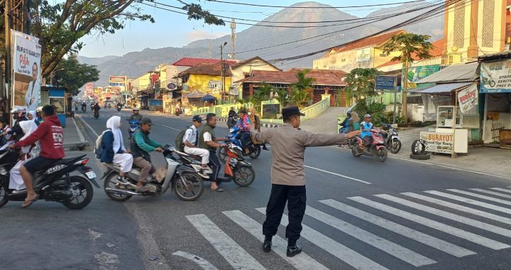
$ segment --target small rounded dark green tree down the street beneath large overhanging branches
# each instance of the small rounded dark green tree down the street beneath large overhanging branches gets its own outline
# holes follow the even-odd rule
[[[70,55],[67,59],[60,60],[57,65],[58,72],[53,72],[53,84],[66,87],[67,92],[78,95],[79,89],[87,82],[99,80],[99,70],[95,65],[81,64],[76,55]],[[51,77],[50,73],[50,77]],[[47,79],[49,81],[50,78]]]

